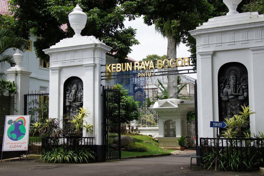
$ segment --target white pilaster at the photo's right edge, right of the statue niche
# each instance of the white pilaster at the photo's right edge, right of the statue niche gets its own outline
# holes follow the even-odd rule
[[[249,106],[251,110],[255,111],[256,114],[250,115],[250,131],[251,133],[258,134],[258,131],[263,132],[263,87],[264,81],[262,80],[263,75],[263,58],[264,58],[264,46],[252,47],[252,71],[253,81],[248,80],[249,89]],[[253,84],[253,85],[252,85]],[[253,90],[250,90],[252,89]],[[252,98],[253,97],[253,98]],[[251,101],[253,99],[253,102]]]

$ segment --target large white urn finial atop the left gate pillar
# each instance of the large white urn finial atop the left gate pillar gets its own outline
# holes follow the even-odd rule
[[[75,32],[73,37],[81,37],[81,31],[87,22],[87,15],[82,11],[81,7],[79,7],[79,4],[77,4],[73,11],[69,13],[68,17],[70,27],[72,27]]]

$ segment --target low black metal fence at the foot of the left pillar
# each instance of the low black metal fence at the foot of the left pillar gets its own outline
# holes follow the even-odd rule
[[[86,148],[94,151],[93,139],[94,137],[43,137],[41,147],[42,154],[60,147],[70,150]]]

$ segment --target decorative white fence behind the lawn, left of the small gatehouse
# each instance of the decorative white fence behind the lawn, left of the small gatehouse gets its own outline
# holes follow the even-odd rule
[[[139,108],[141,112],[140,119],[137,122],[138,127],[158,127],[159,116],[156,111],[152,111],[148,107]]]

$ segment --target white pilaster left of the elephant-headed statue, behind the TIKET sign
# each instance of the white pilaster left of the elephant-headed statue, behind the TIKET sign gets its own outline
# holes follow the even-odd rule
[[[212,55],[213,51],[198,52],[201,60],[201,80],[197,94],[202,97],[201,107],[198,107],[198,130],[200,137],[214,137],[213,128],[210,128],[210,121],[213,121],[213,80],[212,80]],[[197,83],[198,84],[198,83]],[[198,85],[197,85],[198,87]],[[216,119],[215,119],[216,120]]]

